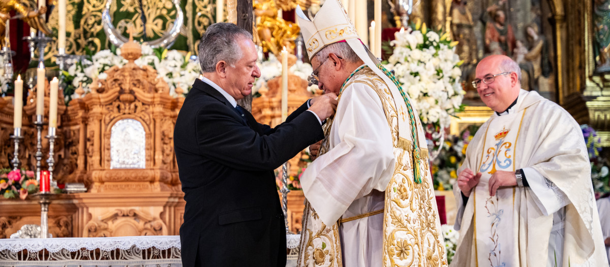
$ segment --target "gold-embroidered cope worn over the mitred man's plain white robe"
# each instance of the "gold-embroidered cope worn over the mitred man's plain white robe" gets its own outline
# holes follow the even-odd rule
[[[399,120],[409,123],[406,104],[402,98],[398,98],[398,103],[395,102],[396,98],[392,97],[391,89],[368,67],[357,71],[343,88],[356,83],[365,84],[378,94],[392,133],[396,159],[392,178],[385,192],[383,238],[379,240],[383,242],[380,252],[383,254],[382,266],[447,266],[428,165],[428,150],[422,149],[420,152],[423,159],[420,171],[426,174],[426,177],[423,177],[422,183],[415,183],[412,140],[398,135]],[[341,94],[339,101],[340,99]],[[415,117],[417,118],[417,115]],[[329,143],[332,122],[332,119],[326,121],[325,139],[320,146],[319,155],[332,149]],[[425,147],[426,141],[419,119],[417,129],[418,138],[422,137],[418,140],[420,148]],[[326,226],[306,201],[297,266],[343,266],[340,221],[341,219],[332,226]]]

